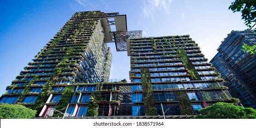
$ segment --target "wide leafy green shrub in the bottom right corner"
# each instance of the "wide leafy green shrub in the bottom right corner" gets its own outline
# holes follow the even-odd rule
[[[195,119],[256,119],[256,110],[251,107],[235,106],[232,103],[217,102],[199,110]]]

